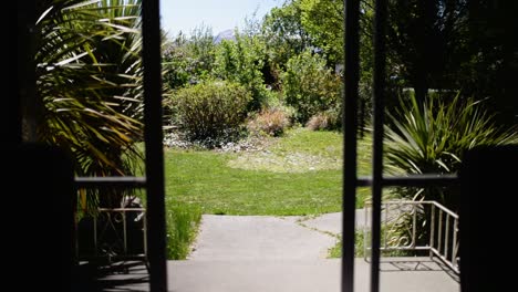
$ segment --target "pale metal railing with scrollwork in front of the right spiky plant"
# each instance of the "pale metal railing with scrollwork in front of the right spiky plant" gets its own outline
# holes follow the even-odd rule
[[[367,260],[371,204],[365,204],[364,210],[363,246]],[[431,259],[437,257],[454,272],[460,273],[458,220],[458,215],[436,201],[383,202],[380,251],[428,251]],[[418,228],[419,225],[423,228]]]

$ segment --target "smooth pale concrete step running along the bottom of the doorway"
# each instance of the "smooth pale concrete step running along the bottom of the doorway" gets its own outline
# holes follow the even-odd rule
[[[458,279],[427,258],[391,258],[381,265],[382,292],[458,292]],[[174,292],[340,292],[341,261],[168,261]],[[355,260],[354,291],[367,292],[370,264]]]

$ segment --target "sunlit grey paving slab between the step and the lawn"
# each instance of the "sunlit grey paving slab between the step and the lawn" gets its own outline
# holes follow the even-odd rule
[[[300,219],[204,215],[189,259],[324,259],[336,238],[302,227]]]

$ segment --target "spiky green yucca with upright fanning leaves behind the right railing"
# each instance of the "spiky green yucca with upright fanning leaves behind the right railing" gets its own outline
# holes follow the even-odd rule
[[[418,104],[414,95],[401,98],[401,108],[387,114],[385,126],[385,159],[388,173],[397,175],[455,174],[467,149],[479,145],[518,143],[516,128],[504,128],[494,123],[494,115],[483,107],[483,102],[431,95]],[[454,187],[426,189],[398,188],[396,196],[412,200],[435,200],[458,211],[459,191]],[[418,240],[427,240],[427,211],[419,210]],[[403,234],[411,223],[402,217],[398,230]]]

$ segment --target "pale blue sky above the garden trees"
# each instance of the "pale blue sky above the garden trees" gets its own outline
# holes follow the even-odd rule
[[[242,28],[245,18],[262,17],[283,0],[160,0],[160,23],[169,36],[180,30],[190,31],[201,24],[213,28],[216,35],[221,31]]]

